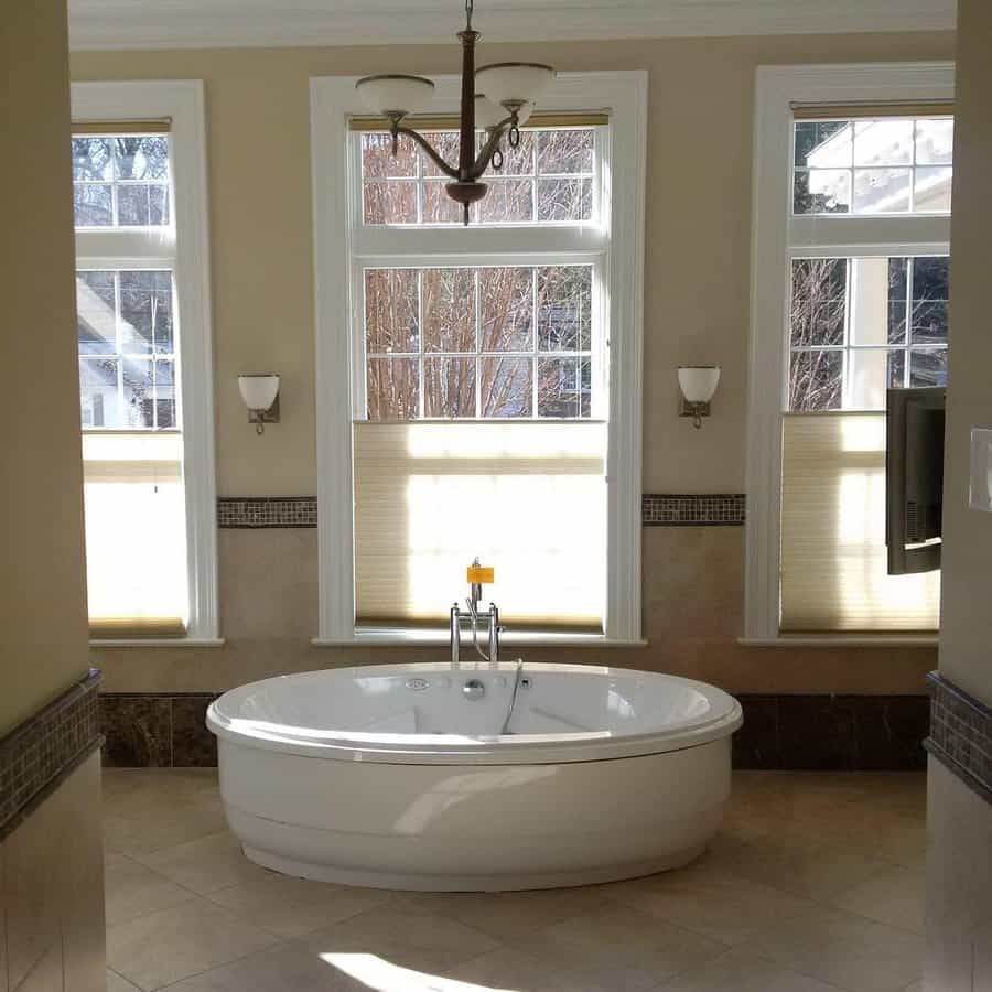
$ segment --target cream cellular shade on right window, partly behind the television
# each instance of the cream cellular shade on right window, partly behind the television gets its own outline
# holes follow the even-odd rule
[[[783,633],[930,633],[940,573],[889,575],[885,414],[783,420]]]

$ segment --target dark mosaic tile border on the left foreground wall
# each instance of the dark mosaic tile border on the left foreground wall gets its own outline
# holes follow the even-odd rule
[[[103,743],[100,672],[89,673],[0,740],[0,839]]]

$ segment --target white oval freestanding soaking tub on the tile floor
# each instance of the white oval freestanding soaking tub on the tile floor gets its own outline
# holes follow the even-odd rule
[[[252,861],[380,888],[552,888],[699,855],[730,792],[741,705],[584,665],[388,665],[216,700],[220,791]],[[506,732],[504,732],[504,730]]]

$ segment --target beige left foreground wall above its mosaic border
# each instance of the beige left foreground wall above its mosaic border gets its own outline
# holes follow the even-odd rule
[[[0,733],[87,665],[65,0],[13,4],[2,37]]]

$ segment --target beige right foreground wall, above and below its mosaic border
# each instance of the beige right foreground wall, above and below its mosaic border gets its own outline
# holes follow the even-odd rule
[[[992,428],[992,7],[958,4],[951,334],[940,671],[992,707],[992,516],[968,509],[969,433]],[[927,835],[927,992],[992,989],[992,806],[934,758]]]

